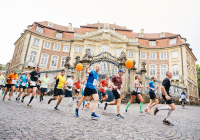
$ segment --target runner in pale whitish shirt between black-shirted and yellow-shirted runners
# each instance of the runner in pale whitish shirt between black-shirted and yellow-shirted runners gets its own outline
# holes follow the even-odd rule
[[[46,73],[45,77],[42,78],[41,80],[41,94],[40,94],[40,102],[43,101],[43,96],[47,94],[47,88],[49,86],[49,74]]]

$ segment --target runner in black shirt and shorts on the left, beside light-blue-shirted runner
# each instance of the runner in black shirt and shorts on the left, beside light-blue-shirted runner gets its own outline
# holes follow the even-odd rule
[[[21,100],[21,102],[23,102],[24,98],[26,96],[29,96],[31,94],[31,91],[32,91],[32,96],[31,96],[30,101],[29,101],[29,103],[28,103],[27,106],[31,107],[31,102],[34,99],[36,91],[37,91],[37,85],[36,85],[36,83],[38,82],[39,78],[40,78],[40,67],[37,67],[36,70],[32,71],[27,76],[27,80],[29,81],[28,93],[24,94],[24,96],[22,97],[22,100]]]

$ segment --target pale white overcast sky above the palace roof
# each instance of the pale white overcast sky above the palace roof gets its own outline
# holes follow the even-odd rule
[[[35,21],[80,27],[126,26],[134,32],[171,32],[187,39],[200,64],[200,0],[0,0],[0,64],[12,59],[14,43]]]

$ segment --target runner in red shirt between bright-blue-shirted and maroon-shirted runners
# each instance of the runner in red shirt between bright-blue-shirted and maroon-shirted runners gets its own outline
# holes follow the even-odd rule
[[[108,87],[108,79],[109,78],[110,78],[110,76],[106,75],[106,78],[99,82],[100,93],[102,94],[102,99],[100,100],[98,107],[101,107],[101,108],[102,108],[103,101],[108,99],[108,95],[106,94],[106,90],[107,90],[107,88],[110,88],[110,87]]]

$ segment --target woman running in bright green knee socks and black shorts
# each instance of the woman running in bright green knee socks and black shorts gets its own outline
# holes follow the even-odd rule
[[[135,87],[131,93],[131,100],[128,102],[127,106],[126,106],[126,112],[128,111],[128,107],[130,106],[130,104],[135,100],[135,98],[137,97],[140,101],[140,114],[143,115],[143,111],[142,111],[142,107],[143,107],[143,103],[144,103],[144,100],[142,98],[142,95],[141,95],[141,88],[144,87],[141,83],[140,83],[140,79],[141,79],[141,76],[140,75],[136,75],[135,76]]]

